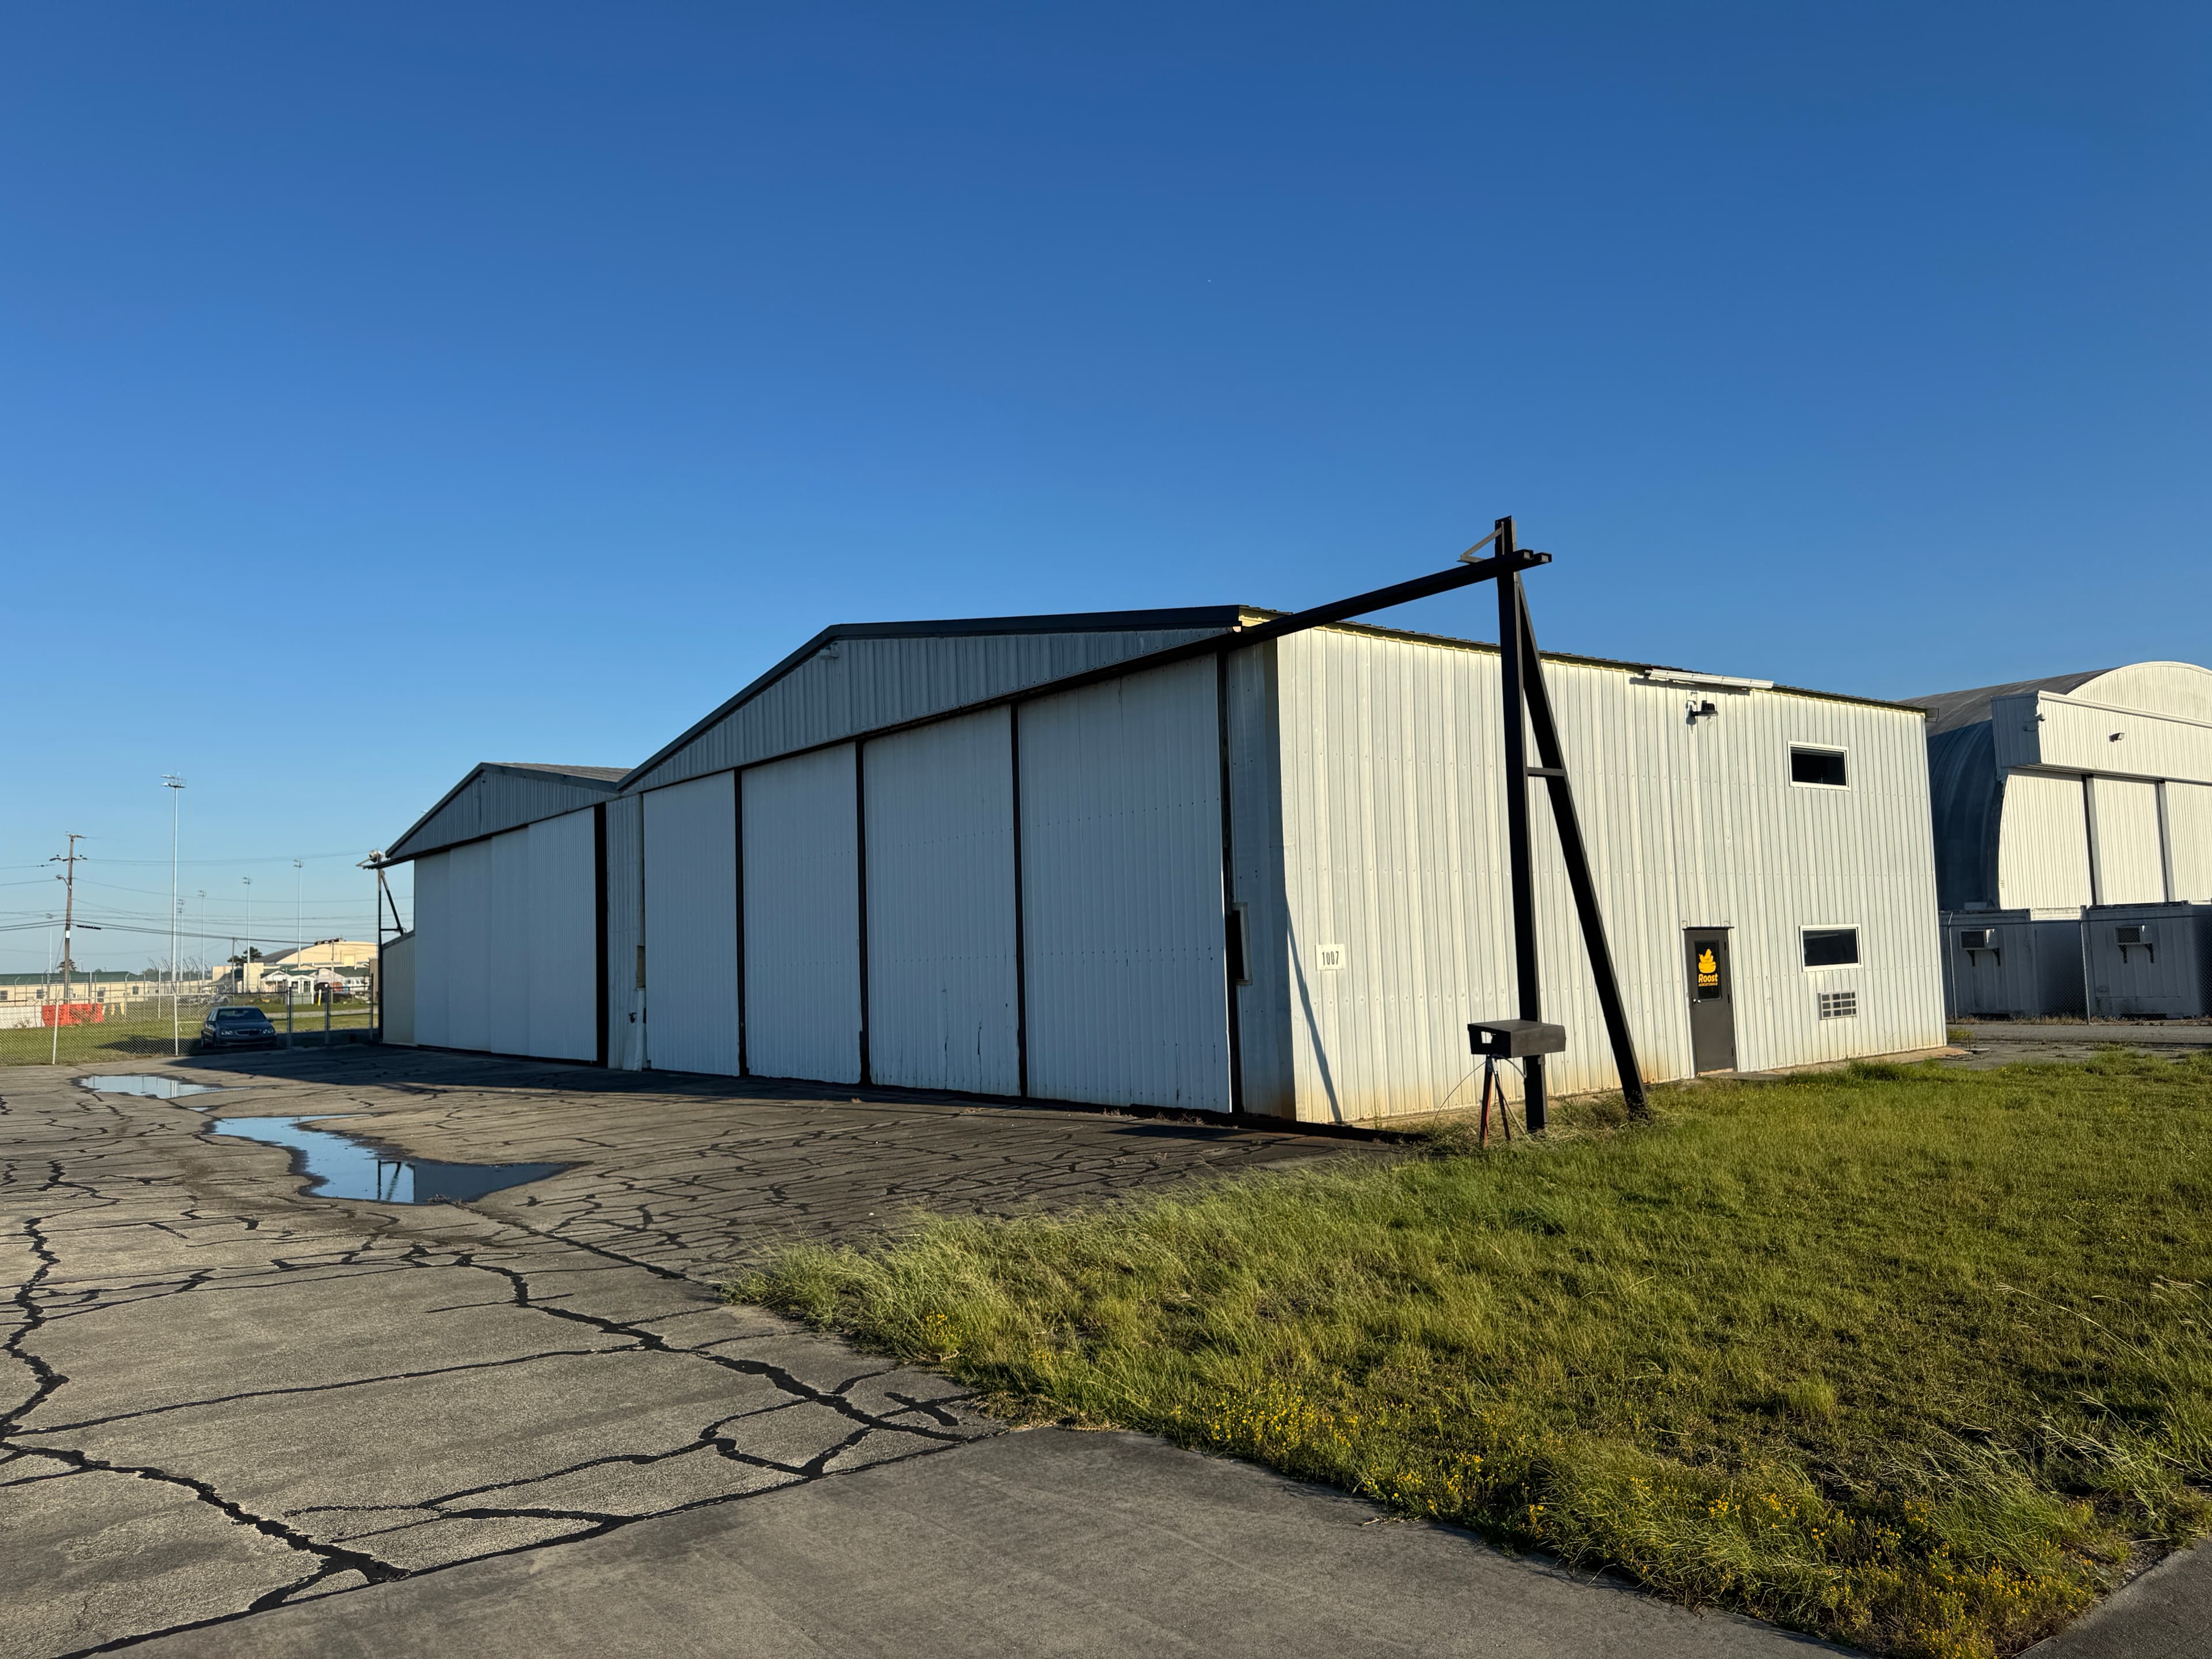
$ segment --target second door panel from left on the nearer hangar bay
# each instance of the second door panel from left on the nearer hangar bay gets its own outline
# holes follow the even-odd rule
[[[860,1082],[852,768],[843,745],[743,772],[745,1064],[763,1077]]]

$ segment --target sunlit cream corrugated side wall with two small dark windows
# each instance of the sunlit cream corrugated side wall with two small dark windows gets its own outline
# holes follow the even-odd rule
[[[1467,1022],[1515,1013],[1498,657],[1356,630],[1279,644],[1283,858],[1298,1110],[1462,1104]],[[1548,664],[1584,836],[1648,1077],[1690,1073],[1681,931],[1730,927],[1745,1071],[1942,1042],[1927,745],[1916,712],[1728,695]],[[1686,703],[1717,714],[1686,719]],[[1790,745],[1845,750],[1847,790],[1790,781]],[[1615,1084],[1546,796],[1531,792],[1544,1011],[1559,1091]],[[1860,964],[1807,971],[1805,927],[1856,927]],[[1343,967],[1325,969],[1325,947]],[[1858,1015],[1820,1020],[1820,991]]]

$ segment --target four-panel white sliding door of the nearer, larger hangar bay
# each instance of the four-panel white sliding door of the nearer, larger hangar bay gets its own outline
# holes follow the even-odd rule
[[[1228,1110],[1214,679],[646,792],[646,1062]]]

